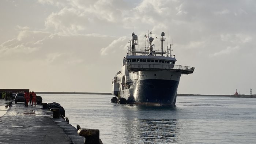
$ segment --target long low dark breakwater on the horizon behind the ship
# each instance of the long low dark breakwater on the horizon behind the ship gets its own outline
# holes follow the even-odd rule
[[[72,95],[111,95],[110,92],[35,92],[36,94],[72,94]],[[178,96],[225,96],[230,97],[230,95],[201,95],[201,94],[177,94]]]

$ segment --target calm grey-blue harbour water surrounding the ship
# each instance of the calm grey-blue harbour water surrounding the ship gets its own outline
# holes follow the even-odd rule
[[[41,94],[104,144],[256,143],[256,99],[177,96],[175,107],[119,105],[112,95]]]

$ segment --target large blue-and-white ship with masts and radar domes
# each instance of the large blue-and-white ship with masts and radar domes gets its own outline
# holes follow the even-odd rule
[[[181,75],[193,73],[194,67],[175,65],[172,46],[163,50],[165,33],[157,38],[161,48],[155,47],[153,33],[144,35],[145,45],[138,48],[138,36],[132,33],[123,58],[121,71],[112,79],[111,102],[119,104],[175,105]],[[143,36],[142,36],[143,37]],[[143,38],[143,39],[144,39]],[[159,43],[158,41],[158,43]]]

